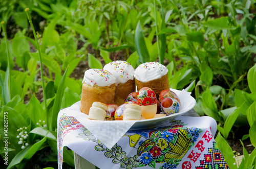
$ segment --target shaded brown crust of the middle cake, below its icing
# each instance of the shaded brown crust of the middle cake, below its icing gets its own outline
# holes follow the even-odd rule
[[[127,95],[135,91],[135,80],[129,80],[125,83],[119,83],[116,86],[114,104],[120,106],[124,103]]]

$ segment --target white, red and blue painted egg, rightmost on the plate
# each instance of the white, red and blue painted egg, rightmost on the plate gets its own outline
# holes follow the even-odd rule
[[[170,115],[180,111],[180,103],[173,98],[165,98],[161,102],[161,110],[164,114]]]

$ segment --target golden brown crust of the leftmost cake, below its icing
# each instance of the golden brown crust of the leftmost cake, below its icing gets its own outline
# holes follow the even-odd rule
[[[81,107],[82,113],[89,114],[90,107],[92,107],[93,102],[101,102],[104,104],[111,104],[114,101],[116,85],[115,83],[110,86],[98,86],[88,85],[86,83],[82,84],[82,94],[81,94]]]

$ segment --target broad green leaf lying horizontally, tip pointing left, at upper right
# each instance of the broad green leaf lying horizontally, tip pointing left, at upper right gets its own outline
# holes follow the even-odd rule
[[[231,29],[228,25],[228,17],[224,16],[221,18],[217,18],[214,20],[209,20],[203,23],[205,27],[211,28],[211,29],[217,29],[217,30],[223,30],[223,29]]]

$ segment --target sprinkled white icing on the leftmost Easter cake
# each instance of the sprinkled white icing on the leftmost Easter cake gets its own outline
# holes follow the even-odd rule
[[[116,83],[116,78],[107,70],[92,68],[84,72],[82,83],[86,83],[92,87],[95,84],[101,87],[110,86]]]

